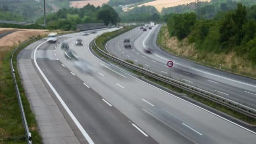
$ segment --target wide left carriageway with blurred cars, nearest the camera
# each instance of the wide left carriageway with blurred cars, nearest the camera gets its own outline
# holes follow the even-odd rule
[[[94,56],[90,42],[109,30],[114,29],[64,35],[55,44],[42,40],[33,51],[35,67],[75,122],[72,129],[80,130],[74,131],[79,139],[90,144],[255,144],[255,132]],[[83,46],[74,44],[77,38]],[[92,73],[65,56],[62,41],[92,65]]]

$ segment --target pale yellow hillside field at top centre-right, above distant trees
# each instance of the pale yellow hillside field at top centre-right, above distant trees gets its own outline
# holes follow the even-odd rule
[[[209,0],[201,0],[201,1],[209,1]],[[195,0],[155,0],[155,1],[144,3],[138,6],[152,5],[152,6],[155,6],[155,8],[157,8],[157,11],[161,12],[162,8],[168,8],[168,7],[183,5],[183,4],[192,3],[192,2],[195,2]]]

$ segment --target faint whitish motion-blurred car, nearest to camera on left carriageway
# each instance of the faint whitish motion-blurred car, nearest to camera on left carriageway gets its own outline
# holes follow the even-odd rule
[[[93,74],[93,72],[94,72],[94,69],[93,69],[92,65],[88,61],[85,61],[85,60],[75,61],[74,65],[81,72],[86,72],[88,74]]]

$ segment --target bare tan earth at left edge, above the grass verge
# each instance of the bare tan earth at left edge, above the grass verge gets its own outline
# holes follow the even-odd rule
[[[28,37],[36,35],[48,34],[48,30],[45,29],[11,29],[11,28],[0,28],[0,32],[4,30],[21,30],[18,32],[13,32],[9,35],[0,39],[0,47],[12,46],[14,43],[19,43],[23,40],[27,40]]]

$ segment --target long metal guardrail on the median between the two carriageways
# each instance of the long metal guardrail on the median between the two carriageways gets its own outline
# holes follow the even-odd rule
[[[237,103],[235,101],[232,101],[232,100],[229,100],[229,99],[226,99],[222,96],[219,96],[219,95],[216,95],[214,93],[211,93],[211,92],[208,92],[208,91],[205,91],[203,89],[200,89],[200,88],[196,88],[192,85],[188,85],[186,83],[182,83],[178,80],[174,80],[172,78],[169,78],[169,77],[165,77],[163,75],[160,75],[160,74],[157,74],[155,72],[152,72],[152,71],[149,71],[147,69],[144,69],[142,67],[139,67],[139,66],[136,66],[134,64],[131,64],[131,63],[128,63],[122,59],[118,59],[117,57],[115,56],[112,56],[111,54],[103,51],[101,48],[99,48],[97,45],[96,45],[96,40],[97,38],[94,40],[94,43],[93,45],[96,47],[96,50],[101,53],[102,55],[106,56],[107,58],[109,59],[112,59],[113,61],[116,61],[118,62],[119,64],[123,64],[124,66],[126,67],[129,67],[131,69],[134,69],[136,71],[139,71],[141,73],[143,73],[144,75],[148,75],[150,77],[153,77],[157,80],[160,80],[162,82],[165,82],[165,83],[168,83],[170,85],[173,85],[175,87],[178,87],[178,88],[181,88],[185,91],[189,91],[191,93],[194,93],[194,94],[197,94],[198,96],[202,96],[203,98],[206,98],[206,99],[209,99],[211,101],[214,101],[218,104],[221,104],[225,107],[228,107],[230,109],[233,109],[237,112],[240,112],[244,115],[248,115],[249,117],[252,117],[252,118],[255,118],[256,119],[256,110],[251,108],[251,107],[247,107],[243,104],[240,104],[240,103]]]

